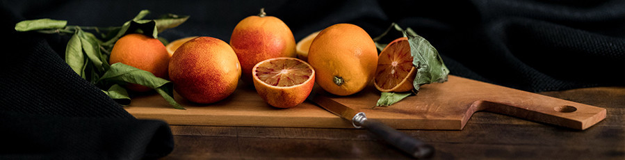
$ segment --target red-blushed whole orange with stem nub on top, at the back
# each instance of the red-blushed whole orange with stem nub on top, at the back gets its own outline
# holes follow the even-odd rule
[[[252,67],[268,58],[295,57],[295,38],[289,26],[277,17],[252,15],[238,22],[230,45],[241,62],[242,78],[252,83]]]

